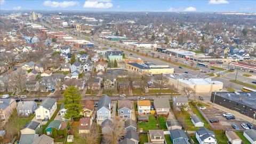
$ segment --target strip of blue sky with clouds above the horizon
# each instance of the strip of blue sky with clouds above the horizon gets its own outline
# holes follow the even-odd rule
[[[256,12],[256,1],[0,0],[1,10]]]

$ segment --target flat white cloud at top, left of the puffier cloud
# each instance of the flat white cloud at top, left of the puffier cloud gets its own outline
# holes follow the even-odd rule
[[[75,1],[63,1],[63,2],[54,2],[54,1],[45,1],[44,6],[51,6],[51,7],[68,7],[78,5],[78,2]]]

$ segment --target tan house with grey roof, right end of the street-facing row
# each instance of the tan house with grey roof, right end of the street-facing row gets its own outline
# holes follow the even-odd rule
[[[188,110],[188,98],[187,97],[173,97],[173,106],[175,110],[180,111],[182,108],[183,110]]]

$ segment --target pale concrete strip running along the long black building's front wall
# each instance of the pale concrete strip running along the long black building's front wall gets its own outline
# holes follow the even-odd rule
[[[206,104],[212,106],[212,102],[210,102],[210,101],[207,101]],[[218,105],[216,103],[214,103],[213,107],[217,108],[219,110],[226,111],[227,113],[231,113],[235,117],[239,117],[241,119],[244,119],[244,121],[247,121],[249,123],[252,123],[252,121],[253,121],[253,118],[251,118],[251,117],[245,116],[245,115],[239,113],[238,111],[231,110],[231,109],[226,108],[226,107],[222,107],[222,106],[220,106],[220,105]],[[254,120],[254,124],[256,125],[256,120]]]

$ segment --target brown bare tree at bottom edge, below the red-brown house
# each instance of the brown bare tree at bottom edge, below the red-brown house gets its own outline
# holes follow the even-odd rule
[[[90,128],[90,132],[82,134],[81,137],[84,143],[94,144],[98,142],[99,135],[99,127],[97,124],[94,123]]]

